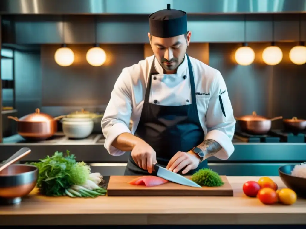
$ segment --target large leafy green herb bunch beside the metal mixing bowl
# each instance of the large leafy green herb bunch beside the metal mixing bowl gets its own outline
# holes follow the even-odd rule
[[[89,178],[90,167],[85,162],[76,162],[74,154],[56,151],[40,162],[32,162],[39,170],[37,187],[43,195],[62,196],[72,185],[81,185]]]

